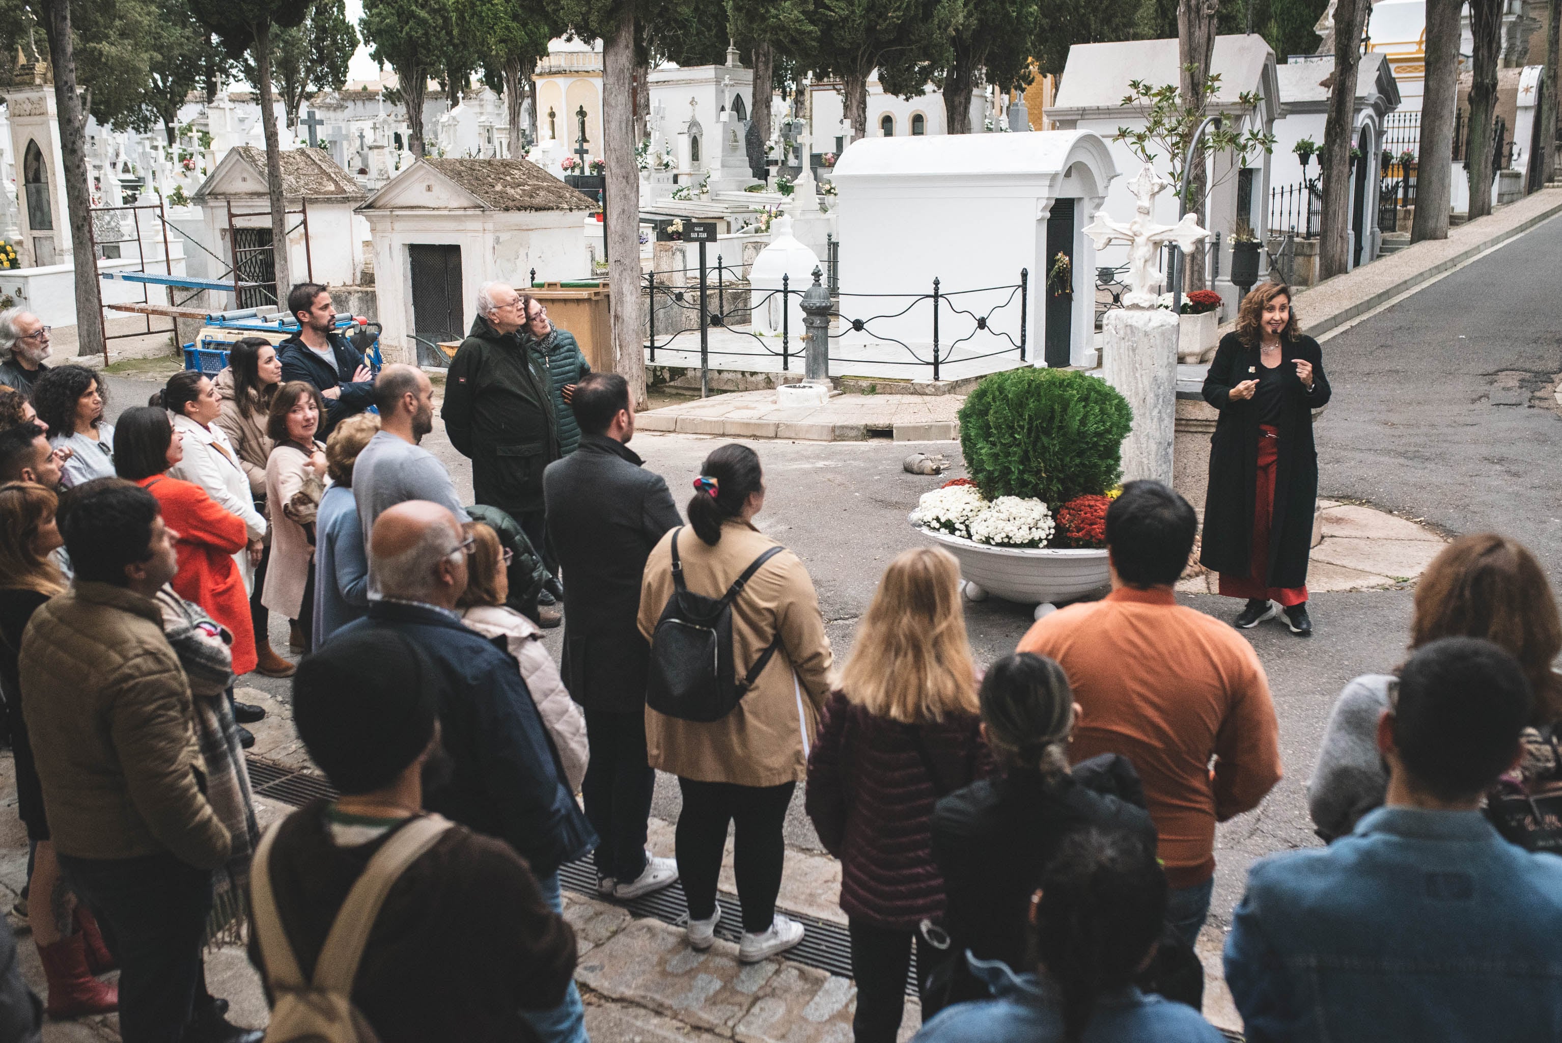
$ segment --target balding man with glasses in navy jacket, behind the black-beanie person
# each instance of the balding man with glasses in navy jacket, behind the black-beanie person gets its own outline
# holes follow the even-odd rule
[[[423,807],[506,842],[531,867],[553,912],[562,912],[559,867],[592,851],[597,834],[570,795],[515,660],[456,612],[472,545],[456,515],[437,503],[386,507],[369,536],[369,615],[339,629],[325,648],[350,634],[390,631],[428,654],[448,692],[439,728],[450,778],[425,774]],[[586,1043],[573,984],[558,1007],[522,1016],[545,1043]]]

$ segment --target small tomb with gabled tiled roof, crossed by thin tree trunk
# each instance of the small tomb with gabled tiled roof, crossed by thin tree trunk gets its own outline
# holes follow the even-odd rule
[[[294,283],[312,278],[326,286],[353,286],[364,269],[362,244],[367,226],[353,214],[364,190],[323,148],[289,148],[281,153],[283,203],[287,211],[287,270]],[[228,225],[241,250],[245,281],[258,283],[270,270],[270,256],[253,253],[272,242],[270,200],[266,187],[266,150],[237,145],[217,162],[191,201],[201,208],[206,245],[223,264],[233,264]],[[301,211],[308,212],[308,244]],[[251,250],[251,253],[245,253]],[[192,248],[194,251],[194,248]],[[264,270],[262,270],[264,269]],[[270,304],[255,300],[256,290],[241,292],[241,308]],[[223,304],[233,308],[234,304]]]

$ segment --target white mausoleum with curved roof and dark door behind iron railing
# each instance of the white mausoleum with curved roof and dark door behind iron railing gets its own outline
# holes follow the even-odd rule
[[[940,345],[968,337],[964,350],[997,351],[1000,336],[1020,339],[1015,287],[1025,269],[1026,362],[1095,365],[1095,247],[1081,230],[1118,169],[1090,131],[853,142],[831,172],[840,194],[842,314],[901,312],[908,298],[897,295],[931,294],[937,278],[950,295],[939,314]],[[976,329],[956,306],[989,329]],[[931,301],[918,301],[859,336],[920,351],[931,347]]]

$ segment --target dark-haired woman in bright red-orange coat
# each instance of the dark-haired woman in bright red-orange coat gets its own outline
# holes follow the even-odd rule
[[[222,509],[205,489],[169,478],[167,470],[184,459],[180,433],[164,409],[139,406],[120,417],[127,428],[127,453],[114,454],[120,478],[128,478],[162,506],[162,522],[178,532],[175,551],[180,571],[173,592],[194,601],[233,634],[233,671],[255,670],[255,628],[250,623],[250,595],[233,562],[250,536],[244,518]],[[116,428],[117,429],[117,428]]]

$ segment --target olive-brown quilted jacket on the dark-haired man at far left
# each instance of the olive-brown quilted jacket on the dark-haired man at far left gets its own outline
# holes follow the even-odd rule
[[[156,601],[77,581],[33,614],[22,712],[59,854],[173,853],[209,870],[228,829],[201,793],[191,689]]]

